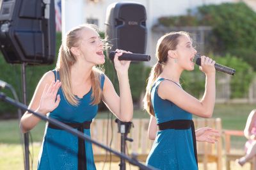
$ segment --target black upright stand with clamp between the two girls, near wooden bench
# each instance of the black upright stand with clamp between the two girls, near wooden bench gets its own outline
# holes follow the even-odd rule
[[[130,132],[132,122],[131,121],[124,122],[124,121],[120,121],[118,119],[116,119],[115,122],[118,125],[118,133],[121,134],[121,153],[125,154],[125,146],[126,146],[125,141],[130,141],[130,142],[133,141],[131,138],[127,137],[127,134]],[[125,170],[125,168],[126,168],[125,159],[122,157],[120,158],[119,166],[120,166],[120,170]]]

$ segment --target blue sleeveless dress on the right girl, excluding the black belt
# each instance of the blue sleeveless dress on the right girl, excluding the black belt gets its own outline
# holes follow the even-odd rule
[[[184,111],[170,100],[163,100],[159,97],[157,89],[162,81],[164,81],[163,78],[158,78],[151,89],[151,100],[157,124],[172,120],[192,120],[191,113]],[[161,170],[198,169],[191,128],[158,131],[146,164]]]

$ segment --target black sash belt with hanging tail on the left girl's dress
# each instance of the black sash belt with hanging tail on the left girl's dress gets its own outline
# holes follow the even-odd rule
[[[78,131],[84,132],[84,129],[90,129],[92,121],[84,121],[83,123],[65,123],[66,125],[72,127],[72,128],[77,128]],[[49,128],[54,128],[54,129],[60,129],[61,128],[57,127],[56,125],[53,125],[49,123],[48,125]],[[86,170],[86,152],[85,152],[85,144],[84,140],[78,137],[78,153],[77,153],[77,169],[78,170]]]

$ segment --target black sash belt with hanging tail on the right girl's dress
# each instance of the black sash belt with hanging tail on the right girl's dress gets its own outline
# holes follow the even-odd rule
[[[159,127],[159,130],[165,130],[165,129],[184,130],[184,129],[191,128],[192,136],[193,136],[193,145],[194,145],[196,164],[198,164],[197,151],[196,151],[195,125],[194,125],[193,120],[171,120],[171,121],[159,123],[157,125]]]

